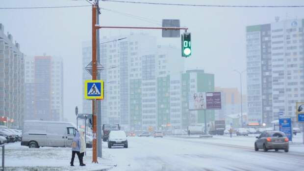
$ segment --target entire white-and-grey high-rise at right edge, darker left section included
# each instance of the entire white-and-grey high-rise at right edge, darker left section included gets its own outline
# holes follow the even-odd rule
[[[303,19],[247,27],[249,122],[295,116],[304,100]]]

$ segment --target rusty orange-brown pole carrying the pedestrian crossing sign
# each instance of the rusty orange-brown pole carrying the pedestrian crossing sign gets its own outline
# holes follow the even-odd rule
[[[92,5],[92,80],[97,79],[97,51],[96,51],[96,11],[97,6]],[[92,114],[93,114],[93,156],[92,163],[98,163],[97,161],[97,114],[96,114],[96,100],[92,101]]]

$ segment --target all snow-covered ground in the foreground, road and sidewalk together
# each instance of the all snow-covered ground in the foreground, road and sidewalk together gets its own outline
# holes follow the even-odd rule
[[[289,152],[254,151],[256,135],[128,137],[128,148],[107,148],[92,163],[92,148],[84,157],[85,167],[71,148],[28,148],[20,142],[5,144],[5,171],[304,171],[302,134],[294,136]]]

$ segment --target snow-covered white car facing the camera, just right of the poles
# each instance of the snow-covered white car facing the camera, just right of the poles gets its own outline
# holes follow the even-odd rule
[[[111,131],[108,138],[108,148],[112,148],[112,146],[124,146],[124,148],[128,147],[127,144],[127,135],[125,131]]]

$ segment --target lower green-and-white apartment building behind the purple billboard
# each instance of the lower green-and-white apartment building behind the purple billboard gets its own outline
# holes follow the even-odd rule
[[[189,125],[204,123],[204,111],[189,111],[189,92],[214,91],[214,75],[203,70],[188,70],[185,73],[159,77],[158,118],[160,126],[187,129]],[[206,110],[206,120],[214,120],[214,111]]]

